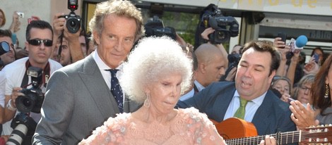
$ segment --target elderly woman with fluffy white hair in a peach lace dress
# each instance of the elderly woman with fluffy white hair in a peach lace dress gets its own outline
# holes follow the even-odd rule
[[[129,99],[143,106],[109,118],[80,144],[225,144],[205,114],[174,108],[190,86],[191,68],[191,60],[172,39],[141,40],[119,81]]]

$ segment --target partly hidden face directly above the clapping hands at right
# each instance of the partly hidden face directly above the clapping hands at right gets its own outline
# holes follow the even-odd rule
[[[312,83],[305,83],[299,86],[299,92],[297,94],[297,100],[301,103],[312,103],[311,91]]]

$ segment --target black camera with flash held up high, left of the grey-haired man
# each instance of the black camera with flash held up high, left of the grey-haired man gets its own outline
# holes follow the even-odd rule
[[[78,0],[68,0],[68,9],[71,10],[69,15],[61,15],[59,18],[66,18],[66,27],[69,32],[76,33],[81,28],[81,17],[74,13],[78,8]]]

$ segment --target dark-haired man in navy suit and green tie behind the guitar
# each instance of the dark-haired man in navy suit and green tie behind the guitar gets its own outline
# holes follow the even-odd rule
[[[259,135],[296,130],[289,105],[268,89],[280,65],[280,55],[272,45],[266,41],[245,44],[235,82],[210,84],[193,98],[179,101],[177,107],[194,106],[221,122],[238,116],[240,102],[245,101],[242,118],[252,122]]]

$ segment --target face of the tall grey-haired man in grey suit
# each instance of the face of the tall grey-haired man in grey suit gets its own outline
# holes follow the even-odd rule
[[[101,34],[93,32],[97,42],[97,53],[110,68],[117,68],[126,60],[131,47],[134,45],[136,21],[132,18],[107,15],[104,19],[104,29]]]

